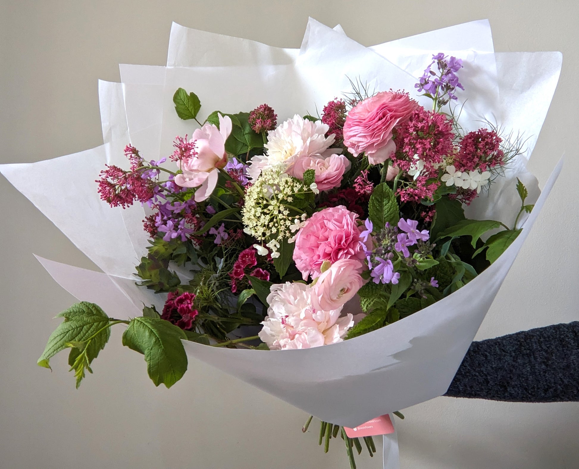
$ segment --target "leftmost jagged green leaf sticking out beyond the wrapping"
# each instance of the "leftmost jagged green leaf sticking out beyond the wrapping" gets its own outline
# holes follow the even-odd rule
[[[86,301],[73,304],[68,310],[58,314],[57,318],[64,318],[64,321],[50,335],[46,348],[38,359],[38,365],[44,368],[50,368],[50,358],[58,352],[68,347],[76,347],[74,344],[85,342],[109,323],[108,316],[100,307]],[[110,336],[111,330],[106,328],[94,337],[89,344],[90,350],[87,352],[89,363],[97,357],[98,352],[102,350]],[[85,346],[86,344],[83,347]],[[73,353],[74,350],[76,352]],[[74,358],[69,356],[69,362],[74,363],[79,354],[79,348],[73,348],[71,355]]]

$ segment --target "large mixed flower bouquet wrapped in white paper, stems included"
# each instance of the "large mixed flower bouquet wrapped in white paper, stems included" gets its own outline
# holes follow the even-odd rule
[[[485,22],[467,30],[479,42],[481,31],[490,37]],[[512,125],[528,110],[519,103],[499,112],[508,77],[499,76],[492,43],[475,54],[466,46],[449,53],[444,43],[445,52],[408,53],[390,43],[382,45],[387,61],[380,46],[369,51],[310,20],[299,53],[269,48],[268,74],[251,63],[255,54],[245,70],[184,66],[192,34],[207,35],[174,26],[174,63],[159,67],[158,83],[124,82],[126,120],[105,107],[98,157],[27,165],[27,180],[78,171],[76,180],[94,181],[64,189],[65,202],[88,209],[82,219],[105,233],[87,249],[105,273],[42,260],[83,301],[58,315],[64,321],[38,364],[50,368],[68,350],[78,387],[111,326],[123,324],[123,345],[144,355],[156,386],[181,379],[188,354],[207,361],[320,417],[320,444],[327,451],[340,435],[355,467],[362,443],[349,427],[444,394],[560,165],[539,197],[525,169],[536,136],[492,120]],[[538,72],[535,127],[518,122],[523,131],[536,121],[540,128],[547,112],[560,57],[549,60]],[[240,83],[223,88],[227,68],[253,83],[250,96],[239,96]],[[306,71],[318,71],[315,85],[303,84]],[[103,83],[101,106],[118,90]],[[149,115],[161,122],[135,123],[146,120],[131,105],[136,90],[155,93]],[[2,172],[43,210],[46,199],[62,200],[63,189],[47,183],[24,187],[22,165]],[[48,212],[88,247],[65,215]],[[364,444],[372,456],[372,436]]]

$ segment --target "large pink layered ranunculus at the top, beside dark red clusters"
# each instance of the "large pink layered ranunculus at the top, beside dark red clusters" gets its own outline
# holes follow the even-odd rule
[[[345,146],[355,157],[365,152],[373,165],[383,163],[396,150],[392,129],[408,120],[417,106],[408,94],[390,91],[361,101],[346,117]]]

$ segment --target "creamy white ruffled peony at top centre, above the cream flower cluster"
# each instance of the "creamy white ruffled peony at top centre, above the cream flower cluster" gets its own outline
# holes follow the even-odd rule
[[[267,167],[276,166],[285,171],[301,157],[328,157],[339,152],[339,149],[328,148],[336,139],[334,134],[325,136],[328,130],[328,125],[321,121],[312,122],[299,114],[294,115],[267,133],[267,143],[264,145],[267,155],[250,159],[250,178],[257,179]]]

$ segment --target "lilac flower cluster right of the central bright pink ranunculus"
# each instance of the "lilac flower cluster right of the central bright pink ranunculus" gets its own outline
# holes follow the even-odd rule
[[[365,221],[365,230],[360,233],[360,243],[364,248],[366,259],[368,261],[368,268],[374,283],[398,283],[400,273],[394,272],[394,253],[398,253],[398,257],[405,260],[407,266],[411,267],[417,263],[416,259],[411,257],[410,246],[417,245],[417,252],[421,254],[430,250],[426,245],[426,241],[430,238],[428,230],[418,230],[418,221],[411,219],[400,219],[397,227],[386,226],[375,237],[375,245],[372,249],[368,249],[368,237],[373,230],[372,221],[367,219]],[[398,232],[398,229],[402,232]],[[434,277],[432,279],[434,280]],[[431,283],[434,285],[433,283]]]

